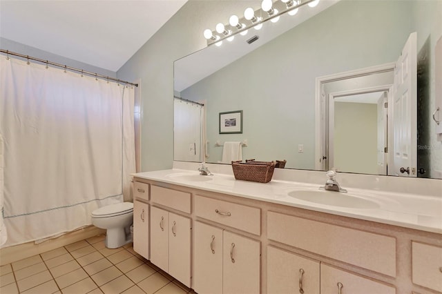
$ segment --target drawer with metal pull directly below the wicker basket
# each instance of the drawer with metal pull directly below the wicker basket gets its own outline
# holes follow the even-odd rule
[[[195,195],[195,215],[260,235],[260,208]]]

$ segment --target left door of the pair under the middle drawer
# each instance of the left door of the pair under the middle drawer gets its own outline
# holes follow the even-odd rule
[[[193,289],[222,294],[222,230],[201,222],[193,226]]]

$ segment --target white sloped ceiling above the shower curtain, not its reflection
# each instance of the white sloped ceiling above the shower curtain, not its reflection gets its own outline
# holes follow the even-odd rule
[[[0,37],[116,72],[186,1],[0,0]]]

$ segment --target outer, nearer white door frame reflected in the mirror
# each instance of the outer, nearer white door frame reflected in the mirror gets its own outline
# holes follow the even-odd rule
[[[396,62],[384,63],[378,66],[369,66],[358,70],[349,70],[338,72],[332,75],[316,77],[315,81],[315,169],[325,170],[325,130],[327,124],[325,121],[325,101],[327,97],[322,97],[321,88],[325,83],[332,81],[341,81],[343,79],[352,79],[354,77],[364,77],[377,73],[390,72],[394,70]]]

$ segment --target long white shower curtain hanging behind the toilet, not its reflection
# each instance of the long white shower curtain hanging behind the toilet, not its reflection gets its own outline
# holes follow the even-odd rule
[[[0,70],[3,247],[87,226],[131,198],[133,88],[6,57]]]

